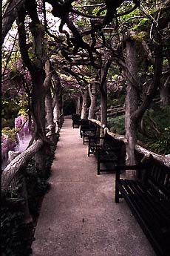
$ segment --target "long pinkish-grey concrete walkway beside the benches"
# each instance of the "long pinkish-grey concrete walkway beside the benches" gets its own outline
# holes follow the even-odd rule
[[[126,203],[114,203],[115,174],[97,176],[71,119],[61,129],[50,183],[33,256],[155,256]]]

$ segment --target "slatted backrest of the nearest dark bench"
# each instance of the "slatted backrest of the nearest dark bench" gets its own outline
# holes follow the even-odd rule
[[[157,188],[170,200],[170,168],[157,160],[149,160],[146,164],[145,181]]]

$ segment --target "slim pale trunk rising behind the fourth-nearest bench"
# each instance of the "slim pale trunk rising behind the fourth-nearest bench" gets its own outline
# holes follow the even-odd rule
[[[92,82],[92,85],[89,85],[89,96],[90,96],[90,106],[89,106],[89,119],[95,118],[95,111],[97,106],[97,90],[96,83]]]

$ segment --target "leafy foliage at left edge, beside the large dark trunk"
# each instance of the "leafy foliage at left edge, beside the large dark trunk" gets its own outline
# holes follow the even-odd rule
[[[2,128],[5,126],[14,128],[13,120],[19,111],[23,109],[27,112],[28,109],[25,86],[26,84],[28,87],[31,85],[30,75],[27,70],[24,70],[21,59],[13,61],[13,55],[14,53],[10,62],[7,62],[7,67],[4,67],[4,75],[2,75]]]

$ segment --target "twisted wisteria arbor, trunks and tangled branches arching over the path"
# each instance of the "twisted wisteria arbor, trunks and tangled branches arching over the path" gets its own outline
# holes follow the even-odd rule
[[[50,24],[49,17],[58,29]],[[44,141],[36,157],[39,168],[44,168],[44,151],[50,143],[45,135],[46,111],[48,124],[52,124],[54,105],[58,106],[55,114],[62,112],[61,97],[58,98],[60,70],[75,77],[81,86],[86,85],[81,93],[86,100],[89,91],[89,117],[95,113],[96,91],[100,93],[101,122],[106,125],[106,82],[112,63],[118,65],[127,80],[127,156],[129,164],[135,163],[137,122],[158,88],[169,103],[169,1],[6,1],[2,41],[14,21],[21,59],[32,81],[27,93],[35,122],[34,135],[36,140]],[[92,67],[93,74],[88,75],[93,77],[84,79],[84,75],[78,74],[78,67]],[[50,93],[54,95],[53,103]]]

